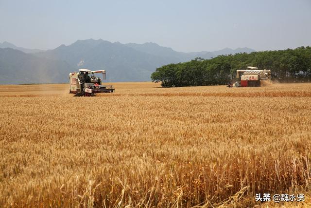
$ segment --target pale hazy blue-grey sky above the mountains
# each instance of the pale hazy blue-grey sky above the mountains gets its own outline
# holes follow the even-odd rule
[[[182,52],[311,45],[311,0],[0,0],[0,42],[53,49],[80,39]]]

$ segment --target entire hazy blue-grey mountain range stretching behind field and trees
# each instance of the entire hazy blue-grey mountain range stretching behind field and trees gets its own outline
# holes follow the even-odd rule
[[[156,43],[109,42],[102,39],[77,40],[71,45],[41,51],[0,43],[0,84],[67,82],[69,72],[80,68],[106,70],[107,81],[149,81],[156,68],[185,62],[195,57],[251,53],[250,48],[225,48],[213,52],[183,53]]]

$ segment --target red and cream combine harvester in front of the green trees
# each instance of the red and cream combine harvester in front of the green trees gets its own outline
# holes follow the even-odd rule
[[[248,66],[246,70],[237,70],[235,83],[229,83],[227,87],[259,87],[261,81],[271,81],[270,70],[258,70],[257,67]]]

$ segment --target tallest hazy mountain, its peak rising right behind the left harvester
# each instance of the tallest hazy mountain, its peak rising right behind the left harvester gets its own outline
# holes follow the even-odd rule
[[[76,70],[106,70],[109,81],[147,81],[155,68],[172,61],[170,57],[154,56],[101,39],[77,40],[69,46],[61,45],[35,56],[64,60]]]

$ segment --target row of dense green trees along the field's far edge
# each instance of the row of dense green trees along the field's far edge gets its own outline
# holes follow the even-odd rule
[[[271,70],[272,80],[279,82],[311,81],[311,47],[250,54],[222,55],[211,59],[195,58],[189,62],[168,64],[151,75],[162,87],[224,85],[247,66]]]

